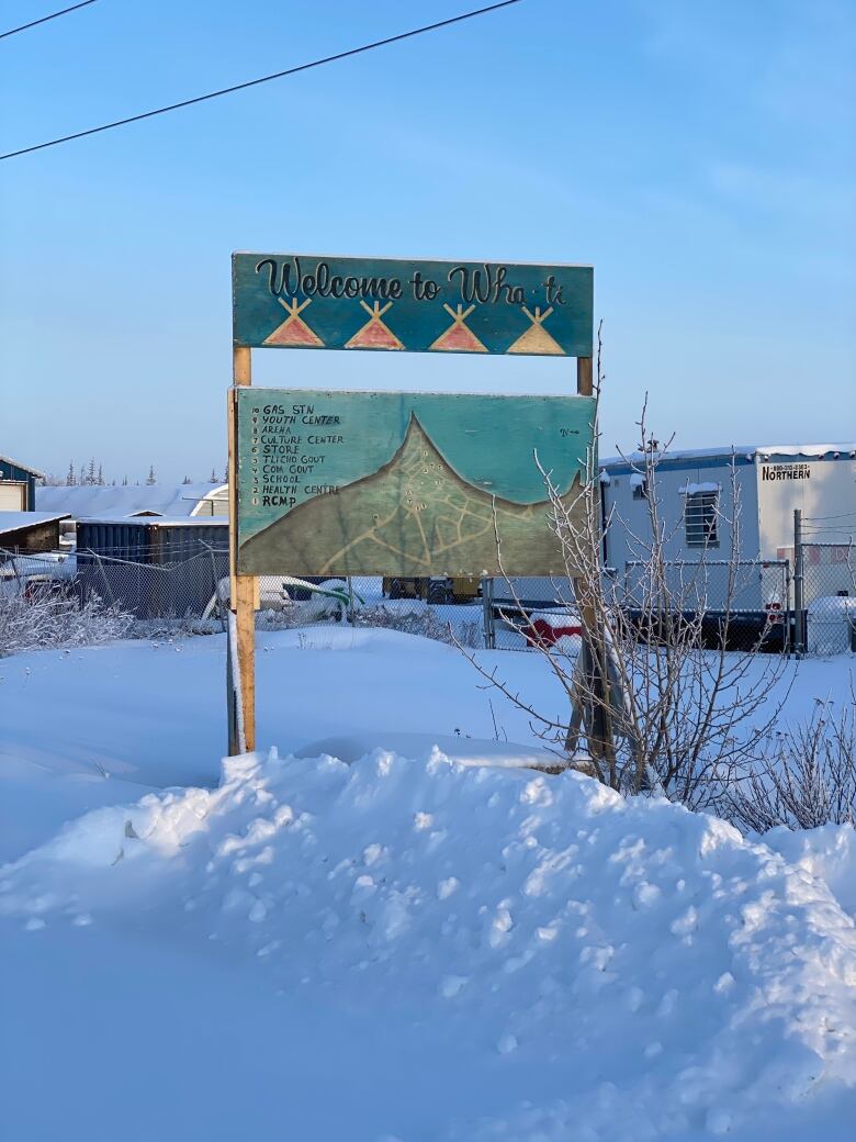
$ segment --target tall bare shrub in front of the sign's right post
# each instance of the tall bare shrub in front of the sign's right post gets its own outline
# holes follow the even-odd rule
[[[601,384],[598,332],[598,399]],[[534,644],[567,698],[565,711],[548,713],[538,699],[527,700],[509,686],[499,667],[465,653],[492,686],[528,715],[533,731],[567,765],[593,771],[614,789],[656,790],[691,809],[713,809],[724,790],[762,754],[788,697],[788,685],[778,685],[788,661],[760,653],[766,629],[749,649],[729,649],[742,568],[735,465],[727,494],[719,497],[716,508],[718,550],[726,558],[717,560],[724,581],[713,612],[706,544],[691,568],[670,560],[675,525],[670,531],[657,486],[665,448],[648,433],[644,411],[639,428],[638,458],[628,463],[646,490],[646,524],[637,533],[628,529],[637,568],[631,588],[616,582],[601,565],[593,449],[587,458],[588,478],[570,508],[550,473],[541,469],[550,526],[573,581],[573,603],[563,604],[558,596],[557,603],[579,619],[583,630],[579,657],[542,641]],[[616,522],[607,518],[603,525]],[[677,524],[681,525],[683,521]],[[502,568],[499,534],[496,545]],[[504,573],[503,578],[515,604],[522,606],[512,580]]]

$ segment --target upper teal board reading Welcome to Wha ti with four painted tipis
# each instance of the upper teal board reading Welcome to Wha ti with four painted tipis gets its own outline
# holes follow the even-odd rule
[[[591,356],[591,266],[233,254],[233,340]]]

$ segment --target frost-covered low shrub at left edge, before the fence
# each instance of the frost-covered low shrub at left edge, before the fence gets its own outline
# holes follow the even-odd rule
[[[134,616],[97,595],[86,601],[49,588],[0,596],[0,657],[62,646],[95,646],[127,636]]]

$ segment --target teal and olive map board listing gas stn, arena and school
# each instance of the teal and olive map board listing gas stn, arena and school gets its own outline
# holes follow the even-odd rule
[[[582,396],[239,388],[237,570],[564,576],[549,483],[572,514]],[[499,550],[498,550],[499,537]]]

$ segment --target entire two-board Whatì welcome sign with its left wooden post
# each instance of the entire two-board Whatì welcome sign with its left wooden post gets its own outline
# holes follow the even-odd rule
[[[590,266],[234,254],[232,272],[235,755],[256,748],[257,574],[496,573],[493,518],[506,573],[560,573],[535,458],[573,501],[595,408]],[[572,356],[578,395],[251,395],[259,347]],[[455,512],[470,530],[450,539]]]

